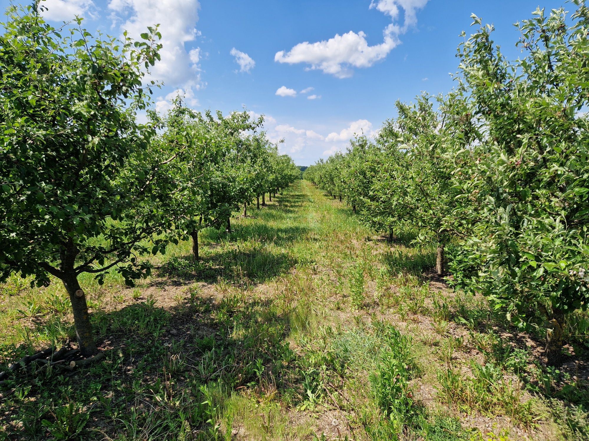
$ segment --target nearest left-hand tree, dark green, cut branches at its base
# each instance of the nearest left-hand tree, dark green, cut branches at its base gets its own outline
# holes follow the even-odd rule
[[[169,152],[148,148],[154,128],[135,119],[159,32],[120,42],[77,24],[62,37],[37,6],[12,6],[0,36],[0,279],[60,279],[90,356],[97,346],[78,275],[101,281],[116,268],[132,283],[148,273],[135,254],[164,248],[139,242],[166,228],[157,205],[173,182]]]

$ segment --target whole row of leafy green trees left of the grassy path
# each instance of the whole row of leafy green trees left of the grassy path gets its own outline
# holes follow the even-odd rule
[[[263,118],[216,118],[181,98],[160,118],[144,75],[160,59],[157,26],[143,41],[55,29],[38,2],[11,6],[0,36],[0,280],[61,279],[84,355],[97,351],[82,273],[128,285],[150,274],[141,256],[220,226],[260,192],[299,170],[256,133]],[[62,36],[62,33],[65,36]],[[139,123],[138,111],[149,122]],[[158,135],[157,129],[161,132]],[[197,247],[195,248],[197,250]],[[31,312],[33,313],[33,312]]]

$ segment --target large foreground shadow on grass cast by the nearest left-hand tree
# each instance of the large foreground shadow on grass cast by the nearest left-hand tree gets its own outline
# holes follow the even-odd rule
[[[151,299],[97,312],[92,324],[104,362],[71,376],[19,373],[11,380],[18,393],[3,403],[5,433],[45,439],[63,429],[62,439],[119,439],[138,431],[176,439],[188,422],[203,435],[191,439],[210,439],[223,419],[214,407],[235,391],[268,381],[291,399],[302,390],[287,342],[294,309],[273,303],[233,289],[220,300],[187,292],[171,308]]]

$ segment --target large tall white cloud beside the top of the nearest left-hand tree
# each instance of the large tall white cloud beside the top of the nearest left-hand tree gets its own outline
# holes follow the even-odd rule
[[[186,44],[200,32],[194,27],[198,21],[200,4],[196,0],[110,0],[114,23],[132,38],[140,39],[147,26],[160,24],[161,61],[151,68],[150,79],[163,81],[168,86],[200,89],[200,49],[187,51]]]

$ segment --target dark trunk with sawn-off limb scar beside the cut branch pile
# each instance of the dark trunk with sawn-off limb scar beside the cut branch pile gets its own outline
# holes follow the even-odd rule
[[[78,348],[85,357],[90,357],[98,352],[94,336],[92,335],[92,325],[88,315],[88,303],[86,295],[80,288],[78,278],[75,274],[64,276],[61,280],[65,289],[70,295],[72,310],[74,311],[75,335],[78,340]]]

